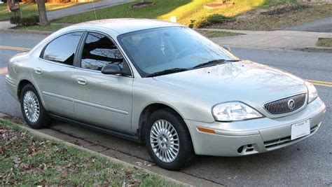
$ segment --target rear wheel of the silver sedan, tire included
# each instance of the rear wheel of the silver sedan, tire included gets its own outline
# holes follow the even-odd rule
[[[34,85],[27,84],[22,88],[20,104],[22,115],[29,127],[41,129],[50,125],[51,119],[44,109],[41,98]]]

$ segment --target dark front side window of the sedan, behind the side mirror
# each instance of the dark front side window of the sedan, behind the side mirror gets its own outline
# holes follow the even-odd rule
[[[107,64],[116,63],[123,67],[123,55],[107,36],[89,33],[81,58],[81,67],[100,71]]]

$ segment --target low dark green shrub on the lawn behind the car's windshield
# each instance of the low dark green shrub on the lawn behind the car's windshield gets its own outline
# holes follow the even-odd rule
[[[233,21],[234,18],[226,17],[220,14],[212,14],[207,17],[200,18],[200,20],[196,20],[193,24],[194,28],[203,28],[209,25],[214,25],[216,23],[230,22]]]

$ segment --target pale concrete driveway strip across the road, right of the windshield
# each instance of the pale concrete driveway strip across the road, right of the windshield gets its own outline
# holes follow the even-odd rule
[[[212,38],[221,46],[238,48],[258,48],[268,50],[298,50],[314,48],[318,38],[332,38],[332,33],[326,32],[296,32],[296,31],[242,31],[229,29],[209,29],[226,32],[238,32],[244,35]]]

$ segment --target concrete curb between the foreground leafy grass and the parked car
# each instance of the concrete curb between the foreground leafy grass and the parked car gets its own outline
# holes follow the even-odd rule
[[[1,118],[1,117],[4,117],[4,116],[8,116],[8,115],[6,115],[6,114],[4,114],[4,113],[0,113],[0,118]],[[19,125],[20,125],[20,124],[19,124]],[[97,153],[97,152],[95,152],[95,151],[92,151],[92,150],[90,150],[90,149],[88,149],[88,148],[83,148],[83,147],[78,146],[78,145],[76,145],[76,144],[71,144],[71,143],[69,143],[69,142],[67,142],[67,141],[64,141],[64,140],[62,140],[62,139],[57,139],[57,138],[52,137],[52,136],[50,136],[50,135],[48,135],[48,134],[43,134],[42,132],[39,132],[39,131],[34,130],[34,129],[32,129],[32,128],[25,127],[25,126],[23,126],[23,125],[20,125],[20,127],[21,127],[23,130],[27,130],[28,132],[30,132],[31,134],[33,134],[33,135],[35,135],[35,136],[37,136],[37,137],[43,137],[43,138],[45,138],[45,139],[50,139],[50,140],[53,140],[53,141],[60,142],[61,144],[64,144],[64,145],[66,145],[66,146],[73,146],[73,147],[75,147],[75,148],[79,148],[79,149],[81,149],[81,150],[83,150],[83,151],[88,151],[89,153],[92,153],[92,154],[99,155],[99,156],[101,156],[101,157],[107,158],[107,159],[111,160],[111,162],[116,163],[116,164],[125,165],[126,167],[132,167],[132,168],[136,167],[136,168],[139,168],[139,169],[143,170],[144,172],[147,172],[148,174],[155,174],[155,175],[158,175],[158,176],[162,177],[163,179],[165,179],[165,180],[167,180],[167,181],[172,181],[172,182],[174,182],[174,183],[176,183],[176,184],[178,184],[178,185],[181,185],[181,186],[192,186],[192,185],[190,185],[190,184],[188,184],[188,183],[184,183],[184,182],[178,181],[178,180],[176,180],[176,179],[172,179],[172,178],[170,178],[170,177],[168,177],[168,176],[164,176],[164,175],[162,175],[162,174],[158,174],[158,173],[152,172],[152,171],[150,171],[150,170],[148,170],[148,169],[145,169],[145,168],[143,168],[143,167],[139,167],[139,166],[137,166],[137,165],[132,165],[132,164],[130,164],[130,163],[123,162],[122,160],[118,160],[118,159],[113,158],[113,157],[110,157],[110,156],[108,156],[108,155],[103,155],[102,153]]]

